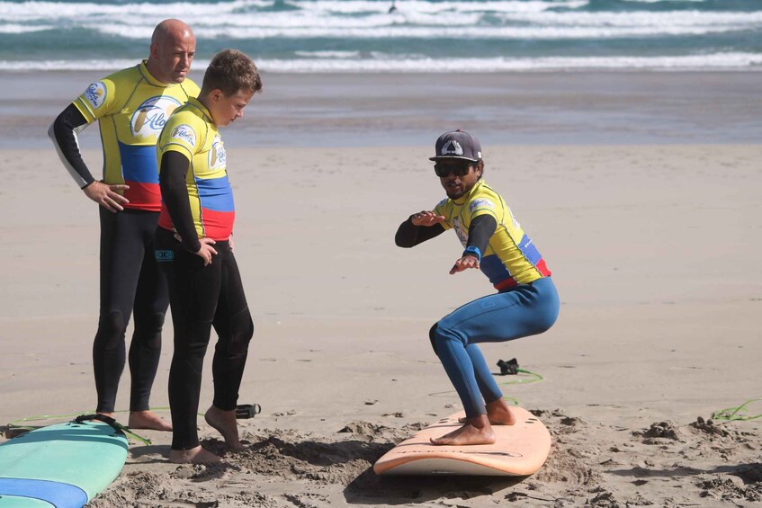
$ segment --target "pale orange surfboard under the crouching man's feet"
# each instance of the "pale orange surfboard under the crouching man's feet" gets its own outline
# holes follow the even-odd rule
[[[461,426],[460,412],[443,418],[400,442],[373,465],[377,475],[471,475],[524,477],[542,468],[551,452],[551,434],[529,411],[511,407],[515,425],[493,425],[494,444],[435,446],[440,437]]]

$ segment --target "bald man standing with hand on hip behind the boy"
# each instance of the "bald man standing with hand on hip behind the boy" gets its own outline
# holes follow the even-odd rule
[[[156,144],[172,111],[199,87],[187,78],[196,50],[191,28],[160,22],[148,59],[89,85],[58,115],[48,135],[63,165],[90,200],[101,223],[101,302],[93,344],[96,413],[113,416],[125,361],[130,363],[130,419],[134,429],[171,431],[150,411],[161,353],[168,294],[154,258],[161,209]],[[77,133],[98,120],[103,179],[96,180],[79,151]],[[130,352],[125,333],[133,317]]]

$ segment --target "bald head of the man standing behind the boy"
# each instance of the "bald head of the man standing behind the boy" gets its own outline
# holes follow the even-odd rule
[[[151,36],[148,72],[162,83],[182,83],[195,53],[196,36],[191,27],[180,20],[164,20]]]

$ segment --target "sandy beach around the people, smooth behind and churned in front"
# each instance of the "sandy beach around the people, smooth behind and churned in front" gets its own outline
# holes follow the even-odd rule
[[[505,78],[493,76],[485,85],[491,91],[474,95],[467,108],[474,116],[462,126],[450,124],[453,111],[437,116],[435,108],[417,108],[421,76],[400,80],[397,91],[405,94],[396,102],[372,102],[367,89],[329,102],[325,76],[279,76],[272,93],[265,79],[261,110],[253,103],[242,126],[230,127],[229,137],[223,132],[236,193],[236,254],[256,327],[240,402],[262,406],[240,421],[247,450],[226,454],[221,467],[177,466],[166,459],[169,434],[139,432],[153,444],[131,442],[121,476],[88,506],[762,503],[760,420],[709,421],[713,412],[762,396],[762,272],[749,266],[762,246],[758,78],[665,74],[665,94],[648,94],[659,75],[644,74],[632,74],[640,77],[629,81],[629,92],[620,87],[624,75],[613,75],[608,87],[588,87],[587,104],[607,104],[590,106],[590,118],[618,119],[607,124],[605,138],[589,119],[571,129],[586,106],[572,94],[560,99],[561,85],[554,89],[541,75],[517,78],[498,103]],[[6,77],[18,85],[28,76]],[[97,210],[42,138],[89,78],[58,77],[55,94],[33,114],[0,104],[17,125],[0,129],[0,428],[94,405]],[[291,93],[302,99],[320,83],[323,109],[315,117],[302,119],[307,106],[288,101],[287,81],[299,79],[306,83]],[[353,79],[330,83],[346,90],[362,81]],[[571,80],[584,88],[582,76]],[[697,81],[716,87],[716,102],[702,101],[708,88],[691,92],[687,85]],[[511,117],[519,88],[536,96],[524,119]],[[22,103],[36,92],[14,94]],[[267,94],[274,97],[265,100]],[[626,97],[619,103],[612,94]],[[327,133],[310,134],[331,103],[337,112]],[[367,103],[385,105],[386,115],[354,109]],[[497,111],[481,120],[478,111],[490,103]],[[293,109],[279,116],[277,106],[286,111],[289,104]],[[490,123],[501,111],[502,123]],[[554,119],[569,122],[574,136],[553,143],[546,128]],[[290,146],[290,126],[300,124]],[[393,243],[403,219],[443,197],[426,157],[435,136],[452,127],[482,138],[485,180],[506,197],[560,292],[560,318],[549,332],[483,348],[493,365],[516,358],[542,375],[534,383],[499,379],[506,396],[538,415],[553,437],[551,456],[531,477],[372,472],[396,442],[460,409],[427,331],[491,292],[480,273],[448,275],[461,252],[454,235],[412,250]],[[532,138],[533,129],[539,134]],[[716,134],[728,129],[743,134]],[[100,150],[95,129],[88,131],[85,160],[96,168]],[[668,132],[663,142],[659,132]],[[158,408],[167,406],[171,336],[168,324],[152,397]],[[202,406],[211,403],[211,358],[205,369]],[[128,382],[125,372],[121,411]],[[749,414],[759,413],[762,402],[749,406]],[[126,423],[127,413],[118,415]],[[200,429],[204,444],[224,453],[201,418]]]

